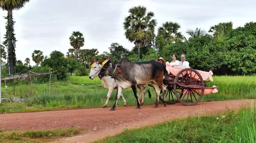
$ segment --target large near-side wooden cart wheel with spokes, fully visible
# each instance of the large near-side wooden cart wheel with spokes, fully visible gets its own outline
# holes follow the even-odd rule
[[[177,99],[183,105],[197,105],[197,103],[203,98],[204,88],[193,89],[182,85],[199,85],[204,87],[205,83],[203,81],[203,77],[198,71],[192,68],[185,68],[181,70],[174,79],[173,90]],[[183,93],[182,98],[180,98],[181,93],[177,92],[179,89],[181,90],[181,93]],[[198,90],[200,90],[200,92],[198,92]]]

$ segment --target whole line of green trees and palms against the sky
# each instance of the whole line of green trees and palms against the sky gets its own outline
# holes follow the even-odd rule
[[[15,21],[10,18],[12,15],[9,13],[10,9],[22,8],[29,0],[14,1],[21,4],[11,7],[9,0],[0,0],[0,8],[8,11],[8,16],[5,17],[5,41],[0,45],[1,58],[7,59],[7,63],[1,63],[6,75],[26,73],[28,70],[56,70],[57,80],[64,79],[67,74],[88,75],[94,58],[97,61],[111,58],[113,62],[118,62],[124,57],[132,61],[163,57],[171,61],[174,53],[179,56],[185,54],[190,67],[203,71],[212,70],[215,75],[253,75],[256,72],[255,22],[248,22],[236,29],[233,29],[232,21],[221,22],[209,27],[209,34],[201,28],[191,29],[186,32],[190,35],[190,38],[186,39],[180,32],[181,25],[177,22],[166,21],[156,28],[154,12],[147,12],[144,6],[130,8],[129,15],[124,17],[124,35],[129,42],[134,43],[132,50],[113,42],[108,48],[109,52],[104,51],[99,55],[97,49],[81,49],[86,41],[81,32],[74,31],[69,38],[73,48],[68,49],[66,55],[55,50],[48,57],[44,56],[42,51],[34,50],[31,57],[36,66],[31,67],[29,58],[26,58],[24,63],[16,59],[17,40],[13,28]]]

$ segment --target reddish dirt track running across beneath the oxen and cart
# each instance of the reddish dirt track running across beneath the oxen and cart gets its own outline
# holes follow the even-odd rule
[[[85,135],[61,139],[55,143],[89,142],[102,139],[107,135],[116,135],[125,128],[137,128],[145,125],[160,123],[173,118],[197,116],[218,113],[229,109],[238,109],[242,104],[251,103],[252,100],[199,102],[198,105],[185,106],[181,103],[174,105],[159,104],[143,105],[141,109],[136,106],[119,106],[115,111],[110,107],[90,109],[70,109],[60,111],[46,111],[33,113],[0,114],[1,130],[46,130],[56,128],[69,128],[80,126],[88,129]]]

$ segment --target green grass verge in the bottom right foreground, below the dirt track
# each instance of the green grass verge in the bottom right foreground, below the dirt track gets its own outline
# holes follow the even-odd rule
[[[93,143],[256,143],[256,108],[125,129]]]

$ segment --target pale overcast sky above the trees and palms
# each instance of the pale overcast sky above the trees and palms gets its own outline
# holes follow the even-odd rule
[[[219,22],[233,21],[233,28],[256,21],[255,0],[31,0],[24,8],[13,11],[17,59],[24,63],[33,50],[49,56],[53,50],[66,55],[72,31],[84,34],[81,49],[105,51],[112,42],[131,50],[133,43],[124,36],[123,21],[128,9],[143,5],[153,11],[158,24],[173,21],[181,32],[201,27],[208,31]],[[4,41],[7,12],[0,10],[0,37]],[[157,31],[157,30],[156,30]],[[109,51],[108,49],[106,51]]]

